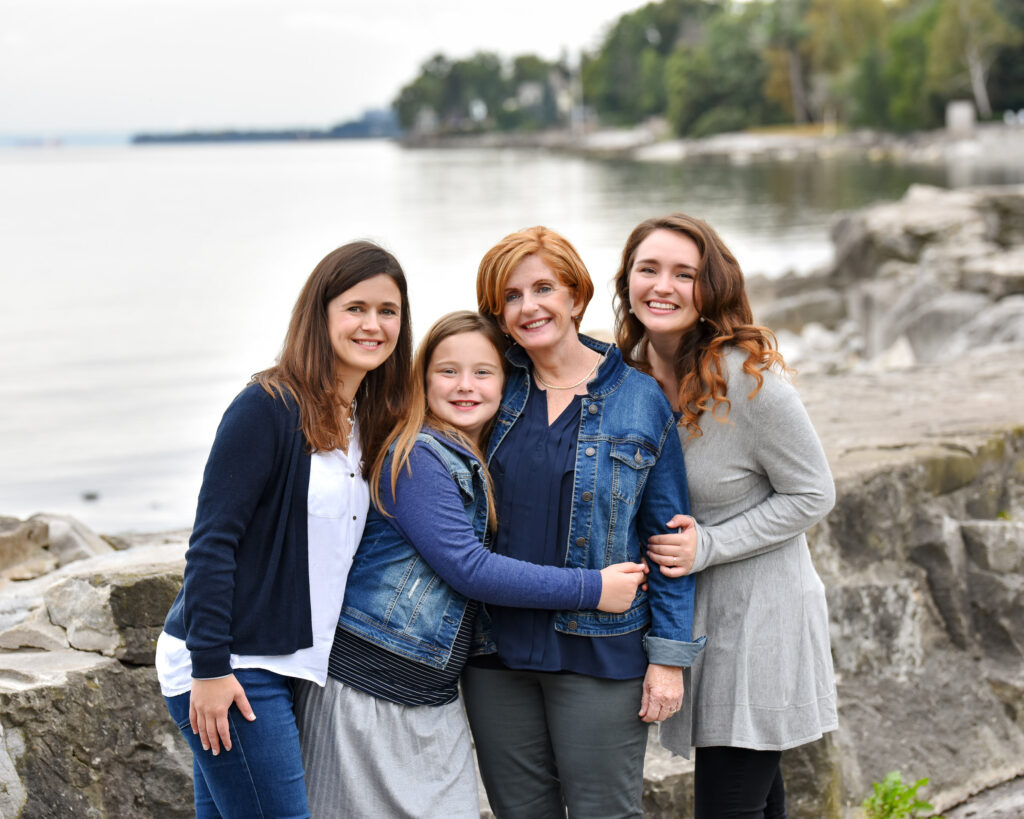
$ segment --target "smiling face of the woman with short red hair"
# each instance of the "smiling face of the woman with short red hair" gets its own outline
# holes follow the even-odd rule
[[[582,312],[572,288],[540,256],[527,256],[505,283],[499,324],[527,353],[556,350],[575,339],[573,317]]]

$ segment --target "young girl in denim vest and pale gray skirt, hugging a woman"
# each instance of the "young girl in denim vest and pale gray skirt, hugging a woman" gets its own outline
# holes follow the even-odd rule
[[[505,342],[472,312],[440,318],[413,365],[409,415],[374,464],[374,505],[349,573],[327,688],[296,709],[314,816],[478,817],[458,701],[477,603],[622,612],[643,566],[538,566],[495,555],[481,446]]]

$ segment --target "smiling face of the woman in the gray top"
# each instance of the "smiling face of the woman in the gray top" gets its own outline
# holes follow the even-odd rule
[[[630,267],[630,308],[648,336],[680,339],[696,322],[699,266],[696,243],[675,230],[654,230],[637,246]]]

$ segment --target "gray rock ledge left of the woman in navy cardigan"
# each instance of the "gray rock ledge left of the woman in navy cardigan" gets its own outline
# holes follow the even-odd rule
[[[5,819],[193,815],[191,755],[153,667],[185,541],[135,540],[0,589]]]

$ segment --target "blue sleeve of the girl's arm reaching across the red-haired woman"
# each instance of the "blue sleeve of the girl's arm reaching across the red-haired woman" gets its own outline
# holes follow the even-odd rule
[[[485,549],[466,518],[459,487],[436,452],[418,443],[398,474],[381,475],[384,505],[395,528],[459,594],[502,606],[593,609],[601,599],[597,569],[541,566]],[[410,474],[410,471],[412,474]]]

